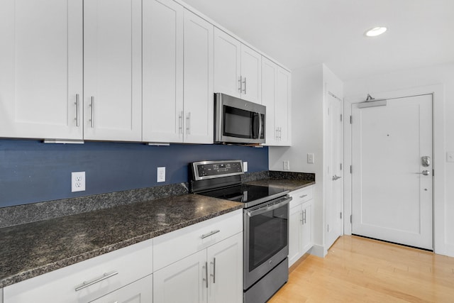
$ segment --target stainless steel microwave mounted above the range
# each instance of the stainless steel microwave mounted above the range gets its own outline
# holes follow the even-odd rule
[[[216,93],[214,111],[215,143],[265,143],[265,106]]]

